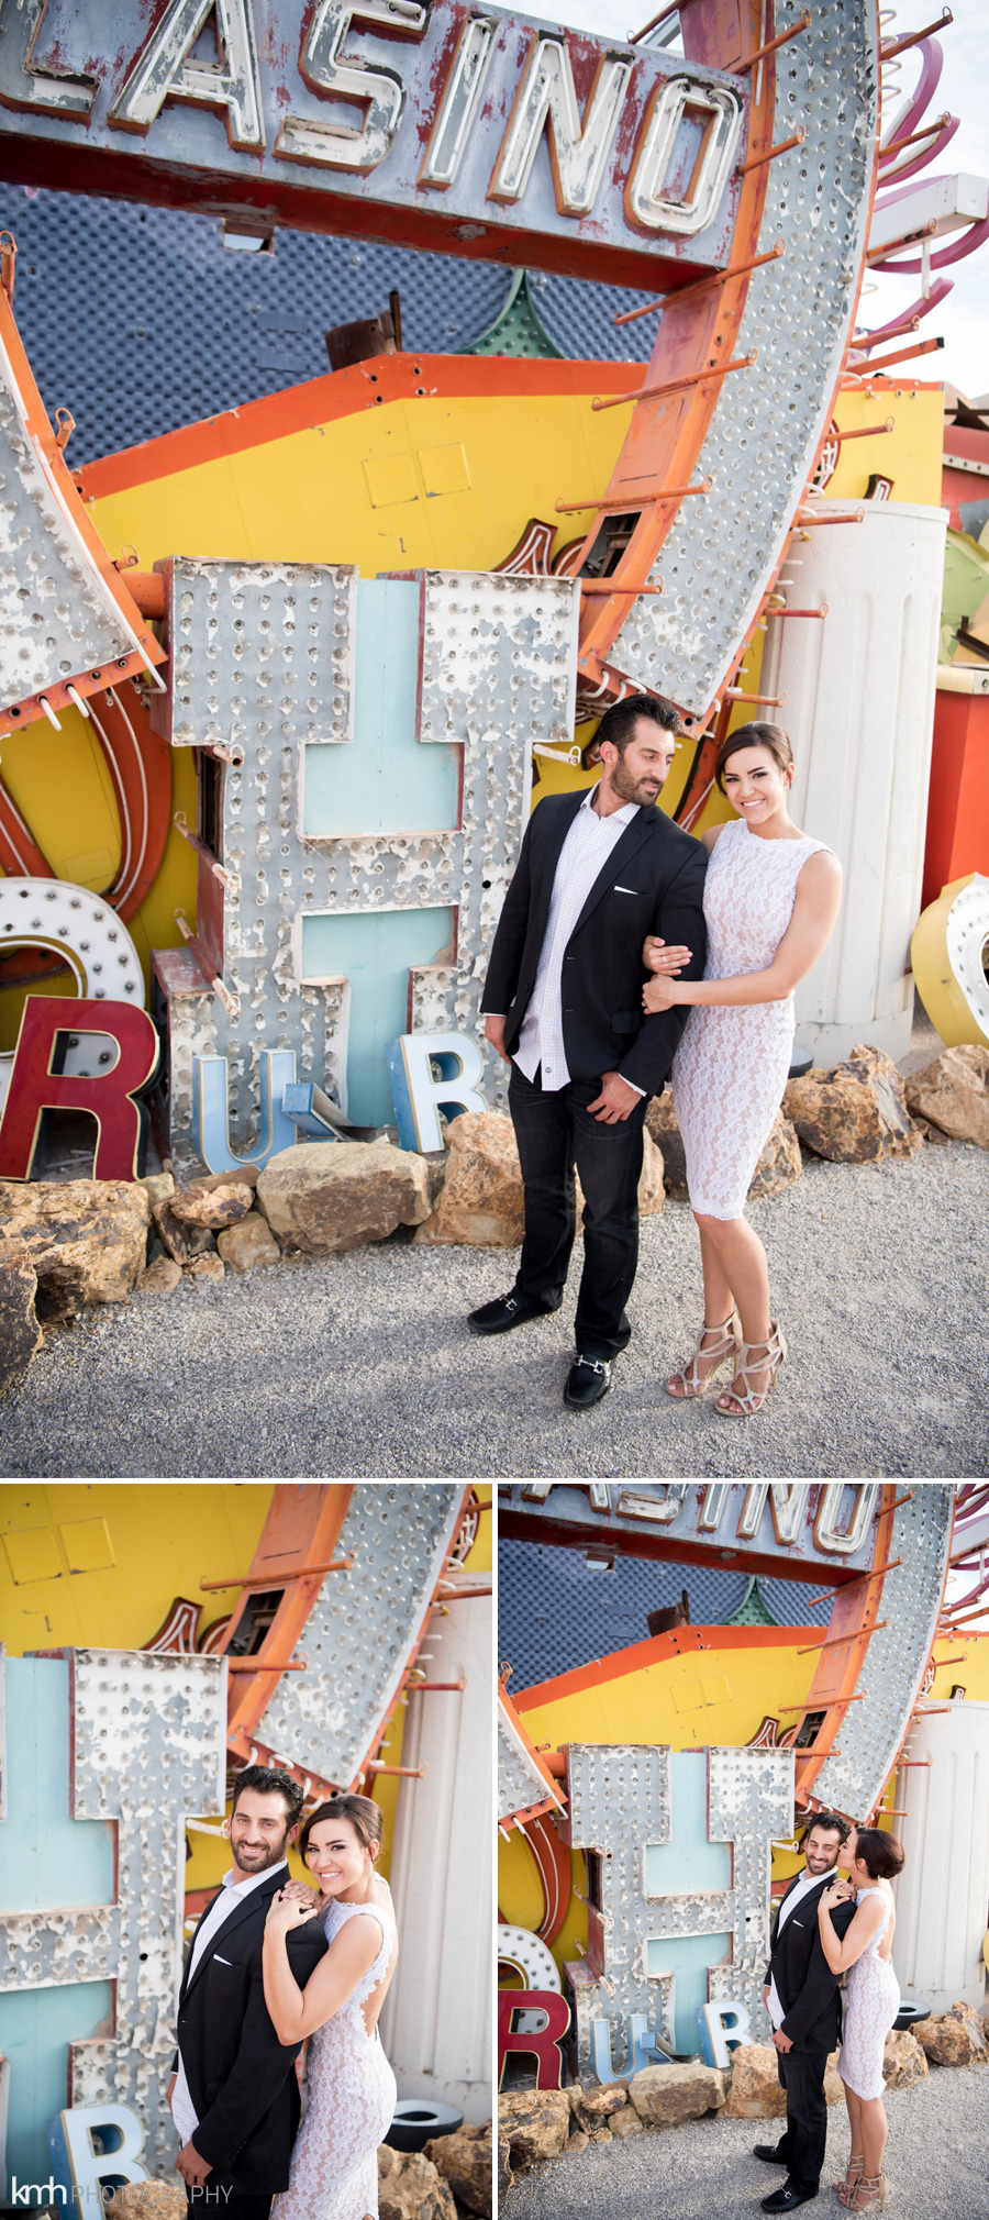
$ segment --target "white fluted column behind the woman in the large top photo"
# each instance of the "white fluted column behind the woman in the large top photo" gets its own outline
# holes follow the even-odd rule
[[[796,990],[796,1054],[827,1066],[856,1041],[889,1057],[909,1048],[947,511],[814,508],[865,515],[794,539],[787,602],[827,602],[827,617],[769,617],[761,693],[787,695],[765,715],[794,748],[792,815],[845,870],[834,939]]]

